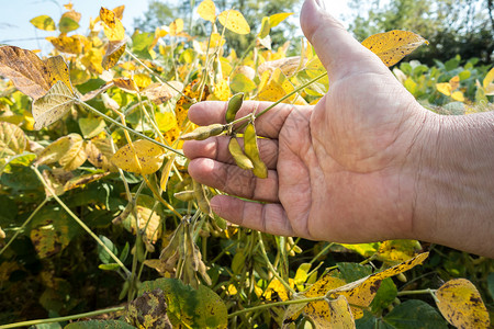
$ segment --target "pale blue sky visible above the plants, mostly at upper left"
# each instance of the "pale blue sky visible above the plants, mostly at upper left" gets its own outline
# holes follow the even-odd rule
[[[348,11],[345,0],[325,0],[326,7],[339,16]],[[0,43],[19,46],[27,49],[49,50],[50,45],[44,39],[46,36],[56,36],[56,32],[45,32],[35,29],[30,20],[47,14],[58,22],[63,4],[69,0],[0,0]],[[176,2],[175,0],[168,2]],[[199,3],[199,0],[197,0]],[[147,9],[148,0],[72,0],[74,9],[82,14],[79,34],[86,34],[89,19],[99,14],[101,7],[113,9],[124,4],[123,24],[132,33],[134,19],[141,16]],[[297,16],[297,12],[295,12]],[[297,18],[296,18],[297,19]],[[34,39],[38,38],[38,39]]]

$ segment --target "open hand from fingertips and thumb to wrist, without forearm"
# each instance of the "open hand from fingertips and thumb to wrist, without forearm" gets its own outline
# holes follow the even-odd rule
[[[280,104],[256,121],[268,179],[237,168],[228,137],[188,141],[189,171],[199,182],[232,195],[216,196],[216,214],[277,235],[333,241],[404,238],[413,216],[414,140],[426,111],[329,15],[307,1],[302,27],[329,75],[328,93],[315,106]],[[327,24],[312,22],[324,19]],[[304,23],[306,22],[306,23]],[[324,26],[324,27],[321,27]],[[269,103],[246,102],[237,116]],[[194,105],[200,125],[225,123],[226,104]]]

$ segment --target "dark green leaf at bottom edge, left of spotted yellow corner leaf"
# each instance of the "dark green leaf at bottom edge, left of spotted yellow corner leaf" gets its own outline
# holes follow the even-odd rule
[[[448,328],[448,324],[433,306],[418,299],[400,304],[383,318],[383,321],[396,329]]]

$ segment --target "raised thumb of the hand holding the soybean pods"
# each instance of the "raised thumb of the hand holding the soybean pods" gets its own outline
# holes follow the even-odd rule
[[[355,39],[341,23],[326,11],[324,1],[305,0],[300,23],[325,66],[329,80],[388,70],[372,52]]]

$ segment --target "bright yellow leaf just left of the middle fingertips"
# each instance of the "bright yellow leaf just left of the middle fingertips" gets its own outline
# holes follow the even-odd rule
[[[120,148],[111,158],[113,164],[122,170],[139,174],[149,174],[161,168],[165,151],[156,144],[138,139],[131,145]]]

